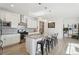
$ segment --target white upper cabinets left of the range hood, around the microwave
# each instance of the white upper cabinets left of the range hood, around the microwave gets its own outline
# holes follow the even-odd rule
[[[19,14],[0,10],[0,18],[2,21],[11,22],[12,28],[17,28],[18,23],[20,22]]]

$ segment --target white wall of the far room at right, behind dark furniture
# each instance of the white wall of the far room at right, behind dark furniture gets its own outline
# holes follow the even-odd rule
[[[78,24],[79,23],[79,18],[78,17],[77,18],[64,18],[63,19],[63,23],[64,23],[64,27],[72,27],[73,28],[74,24]],[[64,37],[71,37],[72,34],[78,33],[78,29],[74,29],[73,28],[73,31],[69,30],[68,33],[65,34]]]

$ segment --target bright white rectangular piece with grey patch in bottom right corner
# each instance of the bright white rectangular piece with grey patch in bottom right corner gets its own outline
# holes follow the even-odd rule
[[[68,43],[66,54],[79,55],[79,44]]]

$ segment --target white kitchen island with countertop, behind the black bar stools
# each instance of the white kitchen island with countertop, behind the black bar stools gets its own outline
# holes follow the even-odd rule
[[[26,36],[26,49],[27,49],[27,52],[30,55],[35,55],[36,54],[37,41],[40,41],[42,39],[43,39],[42,35],[29,35],[29,36]]]

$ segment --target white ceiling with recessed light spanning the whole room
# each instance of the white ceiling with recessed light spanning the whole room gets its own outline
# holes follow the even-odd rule
[[[79,3],[0,3],[0,9],[33,17],[79,17]]]

